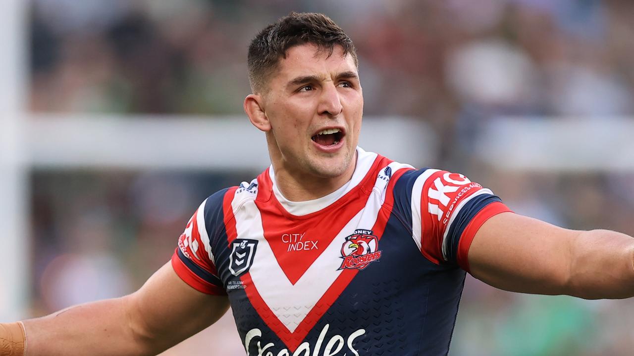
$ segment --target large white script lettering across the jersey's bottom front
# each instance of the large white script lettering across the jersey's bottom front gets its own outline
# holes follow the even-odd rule
[[[283,348],[275,353],[274,350],[278,349],[274,343],[262,345],[264,341],[261,340],[262,331],[260,329],[250,329],[244,338],[244,348],[247,350],[247,356],[339,356],[342,350],[344,351],[342,355],[348,355],[348,352],[351,352],[351,355],[359,356],[359,352],[354,348],[353,344],[356,338],[365,334],[365,329],[358,329],[350,334],[346,340],[344,340],[344,337],[341,335],[333,335],[330,336],[330,339],[326,342],[328,327],[330,327],[330,324],[326,324],[326,326],[321,329],[319,338],[314,345],[303,342],[297,346],[297,349],[292,353],[288,348]],[[249,348],[252,344],[257,346],[257,354],[249,353]],[[346,350],[344,350],[344,346],[347,347]]]

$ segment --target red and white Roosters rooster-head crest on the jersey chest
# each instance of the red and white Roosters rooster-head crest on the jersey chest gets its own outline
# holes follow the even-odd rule
[[[344,262],[339,269],[365,269],[381,258],[377,236],[374,236],[371,230],[356,229],[354,234],[347,236],[346,242],[341,246],[341,255]]]

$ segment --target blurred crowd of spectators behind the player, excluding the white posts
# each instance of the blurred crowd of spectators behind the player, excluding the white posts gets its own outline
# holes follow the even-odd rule
[[[631,1],[31,0],[30,110],[240,114],[249,41],[292,10],[326,13],[353,39],[366,115],[434,129],[429,165],[491,187],[515,212],[634,235],[632,172],[517,174],[470,154],[499,116],[631,117]],[[256,174],[36,170],[34,314],[138,288],[200,201]],[[451,354],[630,355],[633,330],[631,301],[513,295],[469,279]],[[235,342],[223,354],[243,354]]]

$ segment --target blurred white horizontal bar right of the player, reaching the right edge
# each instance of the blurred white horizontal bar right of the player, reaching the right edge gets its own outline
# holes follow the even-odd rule
[[[630,117],[500,117],[484,125],[476,154],[520,172],[634,172]]]

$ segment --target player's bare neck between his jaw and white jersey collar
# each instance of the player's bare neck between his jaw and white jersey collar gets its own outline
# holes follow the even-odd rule
[[[306,172],[290,170],[283,163],[273,162],[277,187],[290,201],[306,201],[327,196],[352,179],[355,167],[356,158],[344,174],[337,177],[318,177]]]

